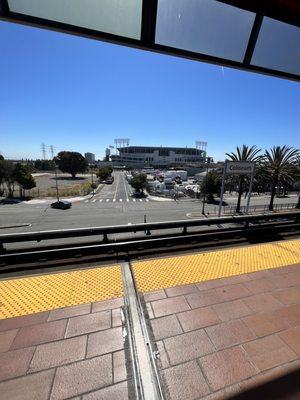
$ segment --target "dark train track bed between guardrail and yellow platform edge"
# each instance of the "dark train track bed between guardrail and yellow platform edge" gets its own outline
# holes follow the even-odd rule
[[[245,244],[296,238],[300,222],[282,221],[259,225],[129,238],[110,243],[76,243],[59,247],[27,248],[6,251],[0,255],[0,274],[67,269],[91,263],[129,261],[138,258],[168,255],[174,252],[204,251]]]

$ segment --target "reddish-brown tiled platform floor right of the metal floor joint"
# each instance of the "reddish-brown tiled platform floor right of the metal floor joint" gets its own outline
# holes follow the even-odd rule
[[[300,399],[300,264],[144,299],[171,400],[223,400],[294,370],[296,391],[289,382],[280,399]]]

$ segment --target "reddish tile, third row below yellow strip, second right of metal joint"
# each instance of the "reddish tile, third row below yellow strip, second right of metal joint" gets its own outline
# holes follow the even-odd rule
[[[217,313],[211,307],[196,308],[180,313],[177,316],[185,332],[220,322]]]

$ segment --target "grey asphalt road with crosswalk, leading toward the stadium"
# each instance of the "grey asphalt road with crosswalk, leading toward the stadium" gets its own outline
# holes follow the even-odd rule
[[[24,232],[48,229],[67,229],[90,226],[170,221],[200,216],[200,200],[155,201],[151,198],[135,199],[123,172],[115,172],[112,185],[104,187],[89,199],[74,202],[69,210],[54,210],[49,204],[0,205],[0,233]],[[236,198],[226,199],[229,205],[236,204]],[[296,203],[297,197],[276,199],[276,203]],[[252,205],[268,204],[269,197],[251,199]],[[245,204],[243,199],[242,204]],[[206,205],[206,212],[213,213],[217,206]],[[14,225],[26,224],[18,228]]]

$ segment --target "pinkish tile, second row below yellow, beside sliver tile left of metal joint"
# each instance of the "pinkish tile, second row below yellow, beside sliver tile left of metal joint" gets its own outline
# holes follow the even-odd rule
[[[100,331],[111,327],[111,311],[103,311],[69,319],[66,337]]]

